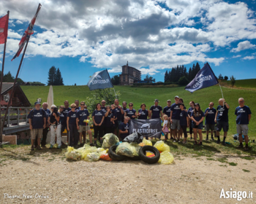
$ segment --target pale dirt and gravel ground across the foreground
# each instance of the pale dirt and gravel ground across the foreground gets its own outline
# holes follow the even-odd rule
[[[221,156],[220,156],[221,157]],[[255,160],[227,162],[184,157],[173,165],[68,162],[35,157],[0,165],[1,203],[255,203]],[[3,165],[4,164],[4,165]],[[245,172],[243,169],[249,170]],[[252,191],[253,199],[219,199],[225,191]],[[4,193],[20,198],[7,198]],[[23,198],[23,194],[33,198]],[[43,195],[48,198],[35,198]]]

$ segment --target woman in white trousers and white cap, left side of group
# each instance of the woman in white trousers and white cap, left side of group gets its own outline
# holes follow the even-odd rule
[[[48,117],[48,124],[50,124],[50,149],[53,148],[55,144],[55,134],[57,137],[58,149],[61,148],[61,122],[60,122],[60,114],[58,112],[58,108],[55,105],[50,106],[52,111]]]

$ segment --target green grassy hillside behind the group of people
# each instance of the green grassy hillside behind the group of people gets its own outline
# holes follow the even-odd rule
[[[256,79],[255,79],[256,82]],[[47,101],[49,87],[33,87],[22,86],[22,89],[26,96],[29,98],[31,104],[37,98],[42,98],[42,101]],[[174,103],[174,97],[178,95],[184,99],[185,106],[189,108],[189,101],[195,101],[200,103],[201,109],[205,110],[208,107],[209,102],[214,102],[214,107],[217,108],[219,98],[222,98],[222,94],[219,90],[219,86],[208,87],[203,90],[198,90],[195,93],[189,93],[184,90],[184,87],[129,87],[129,86],[115,86],[116,91],[121,93],[121,101],[127,101],[127,103],[134,103],[135,109],[140,109],[141,103],[146,103],[149,109],[154,104],[154,99],[157,98],[162,107],[166,106],[167,99],[170,99]],[[256,134],[256,98],[255,90],[242,90],[242,89],[230,89],[222,87],[223,95],[228,104],[230,104],[229,119],[230,119],[230,131],[229,134],[236,133],[236,116],[234,114],[236,107],[238,106],[238,98],[243,97],[246,101],[246,105],[250,107],[252,111],[252,120],[249,125],[249,135],[255,136]],[[73,103],[76,99],[79,101],[86,101],[86,98],[91,95],[91,92],[87,86],[54,86],[54,103],[59,106],[64,104],[65,100],[69,103]],[[100,102],[100,101],[99,101]]]

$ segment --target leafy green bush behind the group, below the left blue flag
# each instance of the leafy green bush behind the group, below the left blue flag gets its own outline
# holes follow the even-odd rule
[[[115,95],[115,91],[113,88],[93,90],[91,91],[91,97],[86,98],[86,106],[89,112],[92,114],[92,112],[95,110],[95,106],[97,103],[105,100],[106,104],[111,105],[115,102],[116,98],[120,98],[120,93],[119,91],[117,91]]]

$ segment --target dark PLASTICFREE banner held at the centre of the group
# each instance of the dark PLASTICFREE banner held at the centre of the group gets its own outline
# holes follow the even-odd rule
[[[161,119],[131,119],[129,133],[140,133],[144,137],[161,138]]]

